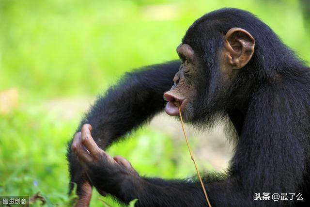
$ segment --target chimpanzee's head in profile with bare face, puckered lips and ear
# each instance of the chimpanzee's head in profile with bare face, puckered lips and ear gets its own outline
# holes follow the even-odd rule
[[[237,77],[247,69],[254,53],[255,40],[245,17],[230,13],[223,19],[225,16],[218,13],[198,19],[177,48],[182,64],[164,97],[168,101],[166,112],[177,115],[179,103],[185,122],[195,122],[230,105]]]

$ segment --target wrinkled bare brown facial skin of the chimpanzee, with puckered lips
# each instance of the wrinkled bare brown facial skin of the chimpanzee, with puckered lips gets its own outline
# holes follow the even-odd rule
[[[187,44],[181,44],[177,48],[177,53],[182,64],[173,78],[174,84],[171,90],[164,94],[164,98],[168,101],[165,110],[171,116],[177,115],[179,114],[178,104],[180,104],[183,119],[188,122],[192,119],[192,103],[197,91],[194,80],[198,75],[197,66],[200,64],[194,50]]]

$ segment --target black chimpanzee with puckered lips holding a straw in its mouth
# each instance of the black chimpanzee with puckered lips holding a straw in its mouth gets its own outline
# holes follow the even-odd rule
[[[181,63],[127,73],[82,120],[68,152],[78,206],[92,186],[137,207],[207,205],[199,181],[140,176],[103,151],[165,106],[178,115],[179,103],[186,122],[228,117],[235,129],[229,170],[203,178],[213,207],[309,206],[310,68],[256,16],[231,8],[196,20],[177,53]]]

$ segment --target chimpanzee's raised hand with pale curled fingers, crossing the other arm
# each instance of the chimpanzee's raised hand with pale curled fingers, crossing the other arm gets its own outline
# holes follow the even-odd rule
[[[128,181],[137,181],[140,176],[128,160],[121,156],[112,158],[100,149],[93,141],[91,130],[91,125],[83,125],[81,132],[74,136],[72,151],[99,193],[117,196]]]

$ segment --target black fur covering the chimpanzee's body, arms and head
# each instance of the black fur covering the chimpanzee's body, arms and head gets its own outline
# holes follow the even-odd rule
[[[233,27],[251,33],[256,45],[236,81],[225,85],[218,81],[218,51]],[[310,68],[266,24],[239,9],[202,16],[182,42],[202,58],[205,68],[197,80],[200,96],[193,124],[212,125],[228,115],[237,132],[227,175],[204,178],[212,206],[309,206]],[[96,143],[106,148],[164,109],[163,93],[179,66],[171,62],[128,73],[98,98],[81,124],[90,123]],[[79,184],[85,176],[70,147],[68,159],[71,180]],[[137,207],[206,206],[198,181],[143,178],[123,186],[114,196],[125,203],[138,198]],[[304,201],[254,201],[255,192],[302,193]]]

